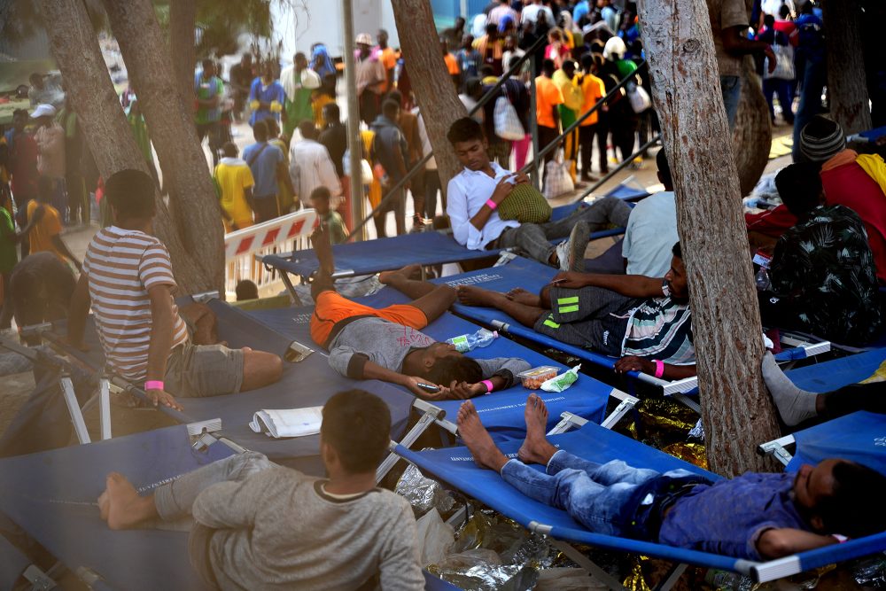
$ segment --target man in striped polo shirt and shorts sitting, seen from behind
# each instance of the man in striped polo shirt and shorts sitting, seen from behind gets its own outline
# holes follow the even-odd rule
[[[143,385],[154,405],[181,409],[172,393],[217,396],[280,379],[283,362],[249,347],[195,345],[173,301],[167,248],[153,236],[154,182],[122,170],[105,183],[113,226],[98,231],[83,259],[68,315],[67,339],[82,348],[89,307],[113,371]]]

